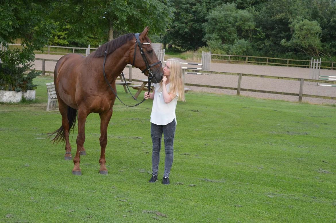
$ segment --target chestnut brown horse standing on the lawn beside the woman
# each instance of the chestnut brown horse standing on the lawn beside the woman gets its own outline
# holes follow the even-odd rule
[[[161,61],[158,60],[148,38],[149,27],[141,33],[129,33],[100,46],[87,57],[80,54],[67,54],[56,63],[54,70],[55,91],[58,99],[62,125],[51,134],[56,136],[53,143],[64,142],[65,160],[72,160],[69,134],[76,119],[78,135],[77,151],[73,160],[72,174],[81,175],[80,155],[84,149],[85,121],[90,113],[100,117],[100,174],[108,174],[105,160],[107,127],[113,113],[116,99],[116,78],[127,64],[139,68],[153,83],[163,77]]]

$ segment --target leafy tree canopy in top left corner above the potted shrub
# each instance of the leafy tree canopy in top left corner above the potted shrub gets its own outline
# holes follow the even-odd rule
[[[48,42],[53,25],[45,19],[44,13],[48,13],[50,7],[48,2],[38,0],[3,0],[0,4],[0,43],[8,48],[9,43],[21,40],[23,49],[18,62],[32,61],[33,51],[41,50]],[[4,53],[6,51],[0,55]]]

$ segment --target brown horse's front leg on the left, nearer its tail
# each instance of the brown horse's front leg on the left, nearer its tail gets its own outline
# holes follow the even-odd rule
[[[81,168],[79,167],[80,163],[80,152],[84,148],[84,142],[85,142],[85,121],[88,116],[88,113],[86,111],[83,111],[81,109],[78,110],[78,135],[77,135],[77,151],[76,156],[74,158],[74,169],[72,170],[72,174],[75,175],[81,175]]]

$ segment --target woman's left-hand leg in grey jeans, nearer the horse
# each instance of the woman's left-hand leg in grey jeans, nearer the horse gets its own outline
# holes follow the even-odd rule
[[[151,136],[153,143],[152,151],[152,174],[158,175],[159,162],[160,162],[160,150],[161,150],[161,138],[162,138],[162,125],[156,125],[151,123]]]

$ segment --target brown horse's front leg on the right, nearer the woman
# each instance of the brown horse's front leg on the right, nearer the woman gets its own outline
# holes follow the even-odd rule
[[[100,143],[100,169],[99,173],[100,174],[107,174],[107,168],[105,166],[106,160],[105,160],[105,149],[107,145],[107,127],[109,125],[111,116],[112,116],[112,109],[110,109],[107,112],[99,114],[100,116],[100,138],[99,138],[99,143]]]

